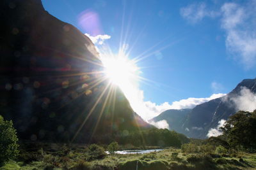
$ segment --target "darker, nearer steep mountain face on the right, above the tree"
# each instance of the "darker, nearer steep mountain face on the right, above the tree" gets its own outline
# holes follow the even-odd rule
[[[233,99],[241,96],[243,87],[256,93],[256,79],[243,80],[227,96],[199,104],[193,108],[182,124],[183,133],[191,138],[207,138],[208,131],[211,128],[216,128],[221,119],[227,120],[238,111]]]

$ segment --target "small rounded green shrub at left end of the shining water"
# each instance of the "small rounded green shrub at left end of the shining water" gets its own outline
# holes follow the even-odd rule
[[[102,159],[106,156],[106,153],[102,146],[92,144],[87,148],[86,156],[86,160]]]

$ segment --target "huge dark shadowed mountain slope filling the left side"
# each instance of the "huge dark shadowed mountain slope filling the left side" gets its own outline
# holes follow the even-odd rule
[[[0,2],[0,114],[20,139],[102,140],[151,125],[102,73],[92,41],[40,0]]]

